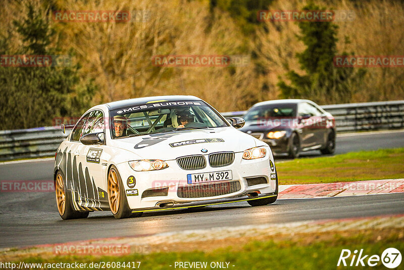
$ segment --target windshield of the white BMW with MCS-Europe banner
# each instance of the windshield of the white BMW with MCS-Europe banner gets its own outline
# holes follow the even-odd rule
[[[149,102],[110,111],[112,138],[229,126],[203,101]]]

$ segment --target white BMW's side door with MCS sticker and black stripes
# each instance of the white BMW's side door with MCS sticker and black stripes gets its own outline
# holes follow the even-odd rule
[[[83,145],[80,152],[79,179],[82,187],[81,195],[85,198],[82,206],[90,209],[108,206],[106,182],[103,173],[106,171],[105,157],[105,119],[101,110],[91,111],[88,115],[82,136],[102,132],[104,142],[94,145]],[[104,160],[104,162],[103,162]]]

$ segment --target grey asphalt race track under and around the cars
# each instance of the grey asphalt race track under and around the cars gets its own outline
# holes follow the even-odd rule
[[[404,131],[337,137],[336,154],[404,147]],[[304,156],[319,156],[315,151]],[[53,161],[1,164],[0,181],[52,179]],[[63,221],[49,193],[0,193],[0,248],[53,244],[105,237],[153,235],[251,224],[403,214],[402,193],[321,199],[284,199],[250,207],[245,202],[200,209],[146,213],[116,220],[111,212]]]

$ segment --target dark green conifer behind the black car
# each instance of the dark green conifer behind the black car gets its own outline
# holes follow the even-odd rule
[[[320,8],[309,4],[304,10],[320,10]],[[337,26],[328,21],[298,22],[298,26],[301,31],[298,38],[305,44],[306,50],[296,54],[296,57],[306,74],[300,75],[294,70],[286,73],[290,84],[283,80],[279,80],[277,84],[281,90],[281,97],[306,98],[328,104],[350,102],[354,94],[350,85],[363,78],[365,72],[362,69],[355,72],[353,68],[334,66],[333,59],[337,53]]]

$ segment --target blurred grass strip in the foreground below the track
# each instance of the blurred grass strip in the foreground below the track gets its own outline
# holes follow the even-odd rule
[[[313,233],[291,236],[288,239],[281,238],[280,240],[278,237],[274,237],[266,241],[254,240],[246,245],[233,245],[211,251],[158,252],[147,255],[130,254],[122,257],[31,257],[24,259],[24,262],[78,262],[88,265],[91,262],[102,261],[121,263],[140,261],[140,269],[175,269],[174,263],[176,261],[206,261],[208,263],[206,269],[211,269],[209,267],[211,262],[229,262],[230,269],[332,269],[337,268],[336,265],[342,249],[349,249],[351,252],[364,249],[363,255],[381,256],[383,250],[389,247],[404,250],[401,230],[367,230],[356,231],[351,234],[341,234],[340,232]],[[346,260],[348,264],[351,258]],[[364,262],[366,263],[367,259]],[[340,266],[339,268],[344,267]],[[376,267],[361,267],[361,269],[363,268],[384,269],[385,267],[379,261]],[[109,268],[107,267],[107,269]]]

